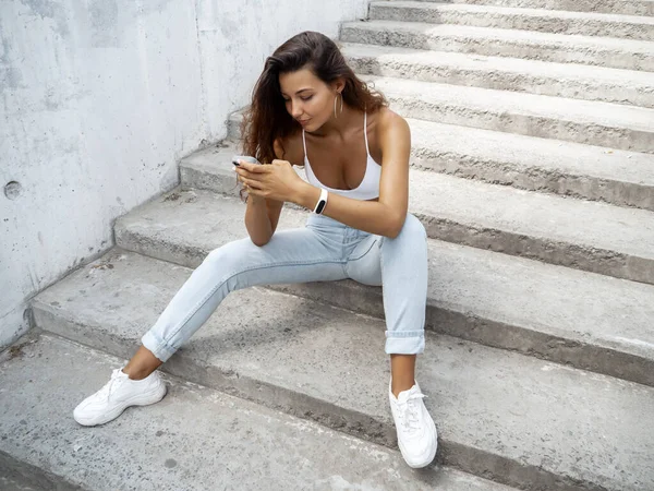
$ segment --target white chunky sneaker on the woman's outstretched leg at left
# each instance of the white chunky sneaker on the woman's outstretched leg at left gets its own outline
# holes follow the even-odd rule
[[[156,370],[143,380],[131,380],[122,369],[116,369],[102,388],[77,405],[73,417],[85,427],[104,424],[130,406],[158,403],[165,395],[166,384]]]

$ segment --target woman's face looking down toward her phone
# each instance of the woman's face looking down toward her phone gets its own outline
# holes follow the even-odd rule
[[[316,131],[334,118],[337,85],[330,87],[308,69],[279,75],[287,111],[306,131]]]

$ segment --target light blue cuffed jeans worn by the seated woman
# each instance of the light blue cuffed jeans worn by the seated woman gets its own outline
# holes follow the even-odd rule
[[[346,278],[383,286],[387,354],[423,352],[427,236],[411,214],[395,239],[311,215],[305,228],[277,231],[263,247],[250,238],[229,242],[206,256],[142,342],[166,361],[230,291]]]

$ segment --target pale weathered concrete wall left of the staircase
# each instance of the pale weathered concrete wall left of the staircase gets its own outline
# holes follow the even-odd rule
[[[112,223],[226,135],[272,49],[368,0],[0,3],[0,348],[29,299],[112,246]]]

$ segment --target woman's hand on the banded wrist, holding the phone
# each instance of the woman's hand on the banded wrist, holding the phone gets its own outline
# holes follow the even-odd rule
[[[301,188],[306,184],[288,160],[272,160],[270,165],[240,160],[240,164],[234,167],[238,179],[255,196],[294,203]]]

